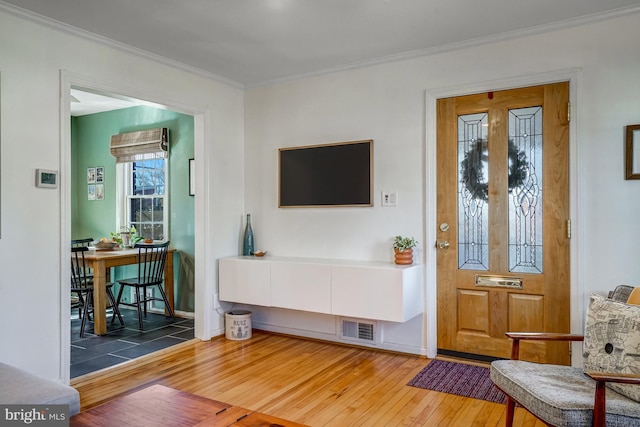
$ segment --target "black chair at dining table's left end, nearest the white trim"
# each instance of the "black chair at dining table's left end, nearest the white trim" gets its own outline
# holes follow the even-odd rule
[[[71,303],[71,308],[78,308],[82,311],[80,317],[82,318],[82,324],[80,326],[80,336],[84,337],[84,330],[86,328],[87,319],[93,312],[93,280],[87,273],[87,266],[84,260],[84,253],[89,249],[86,246],[79,246],[71,248],[71,293],[75,294],[77,300]],[[106,292],[107,298],[111,308],[113,309],[113,317],[111,322],[118,316],[120,324],[124,326],[124,320],[116,304],[116,299],[113,295],[113,283],[107,283]]]

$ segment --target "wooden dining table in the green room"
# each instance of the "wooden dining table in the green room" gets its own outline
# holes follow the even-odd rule
[[[164,290],[167,294],[169,306],[173,310],[173,255],[174,248],[167,251],[167,261],[164,265]],[[93,330],[96,335],[107,333],[107,283],[110,281],[110,269],[123,265],[138,264],[138,249],[114,248],[100,250],[89,248],[85,252],[85,265],[93,269]],[[166,313],[166,310],[165,310]]]

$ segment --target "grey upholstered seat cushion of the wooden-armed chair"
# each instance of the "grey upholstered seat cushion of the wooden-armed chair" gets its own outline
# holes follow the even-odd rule
[[[582,368],[498,360],[491,363],[491,380],[550,425],[592,425],[595,381]],[[630,425],[640,425],[640,404],[608,389],[607,427]]]

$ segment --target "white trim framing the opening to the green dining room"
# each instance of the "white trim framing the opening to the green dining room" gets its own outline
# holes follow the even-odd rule
[[[205,262],[206,254],[211,252],[210,245],[214,240],[208,238],[211,233],[209,227],[210,209],[209,180],[204,179],[204,170],[208,169],[208,147],[204,143],[207,132],[209,111],[206,107],[185,105],[171,99],[163,99],[155,94],[146,93],[136,88],[126,87],[113,82],[98,81],[91,77],[75,74],[66,70],[60,72],[60,378],[69,383],[71,361],[70,328],[71,318],[69,307],[70,292],[70,263],[71,252],[67,242],[71,240],[71,87],[83,87],[105,93],[127,95],[165,106],[172,111],[189,114],[194,121],[194,157],[202,159],[203,167],[196,168],[196,187],[198,197],[195,198],[195,337],[209,340],[218,330],[212,330],[210,319],[213,311],[213,301],[207,295],[215,293],[215,270]]]

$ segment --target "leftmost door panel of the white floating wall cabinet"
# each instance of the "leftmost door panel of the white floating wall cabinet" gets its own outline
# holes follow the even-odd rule
[[[219,292],[221,301],[271,305],[270,263],[259,260],[221,259]]]

